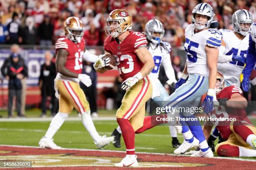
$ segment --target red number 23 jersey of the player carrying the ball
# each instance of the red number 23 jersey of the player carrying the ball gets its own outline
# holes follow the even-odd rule
[[[130,34],[120,44],[111,36],[106,38],[104,49],[115,57],[120,77],[123,80],[133,77],[143,67],[135,50],[146,47],[147,43],[146,37],[141,32],[133,31],[130,31]]]

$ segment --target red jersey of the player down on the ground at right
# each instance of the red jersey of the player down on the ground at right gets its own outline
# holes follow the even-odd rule
[[[217,100],[224,99],[224,98],[230,99],[234,93],[239,93],[240,95],[242,95],[243,92],[240,89],[240,87],[231,85],[221,90],[220,93],[216,95],[216,97],[217,97]],[[248,123],[251,123],[251,121],[247,117],[245,109],[219,106],[219,107],[215,107],[210,114],[211,114],[210,115],[211,117],[213,116],[217,118],[218,117],[225,117],[225,118],[235,117],[236,120],[241,120],[241,121],[246,121]],[[230,130],[230,121],[220,121],[215,123],[217,124],[216,127],[218,128],[223,139],[228,140],[229,135],[232,133],[232,131]]]

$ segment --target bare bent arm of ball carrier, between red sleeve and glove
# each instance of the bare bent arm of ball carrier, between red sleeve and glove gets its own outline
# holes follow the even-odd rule
[[[153,57],[151,56],[151,53],[146,49],[146,47],[138,48],[135,50],[135,52],[138,58],[144,64],[140,71],[141,75],[142,77],[146,77],[155,67]]]

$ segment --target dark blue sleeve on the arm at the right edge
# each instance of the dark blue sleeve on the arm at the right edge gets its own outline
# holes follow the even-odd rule
[[[243,77],[250,77],[253,66],[256,62],[256,49],[255,42],[252,40],[251,35],[249,36],[249,47],[246,55],[246,66],[244,68]]]

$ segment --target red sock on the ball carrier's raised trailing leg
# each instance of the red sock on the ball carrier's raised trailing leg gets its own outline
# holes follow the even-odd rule
[[[157,118],[159,117],[159,118]],[[160,125],[160,124],[163,124],[163,123],[167,123],[167,121],[157,121],[157,120],[160,120],[160,118],[163,118],[163,117],[167,117],[167,115],[154,115],[154,116],[147,116],[144,118],[144,122],[143,122],[143,126],[141,128],[139,128],[138,130],[136,130],[136,134],[137,133],[142,133],[148,129],[151,129],[153,127],[155,127],[156,125]]]

